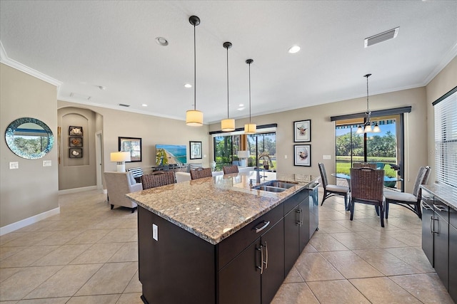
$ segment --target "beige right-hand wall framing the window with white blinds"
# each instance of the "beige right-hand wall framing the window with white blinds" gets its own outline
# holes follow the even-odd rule
[[[457,57],[446,65],[438,75],[427,85],[427,130],[428,130],[428,164],[431,164],[432,172],[428,184],[435,181],[435,172],[433,165],[435,164],[435,127],[434,127],[434,112],[433,101],[437,100],[444,94],[457,86]]]

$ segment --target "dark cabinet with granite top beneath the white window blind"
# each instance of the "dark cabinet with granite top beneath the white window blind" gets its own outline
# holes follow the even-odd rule
[[[422,188],[422,249],[457,303],[457,190],[433,184]]]

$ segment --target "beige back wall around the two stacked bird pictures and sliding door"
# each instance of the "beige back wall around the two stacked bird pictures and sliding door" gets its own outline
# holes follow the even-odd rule
[[[424,145],[427,134],[426,120],[426,89],[415,88],[392,93],[370,96],[370,110],[400,108],[411,105],[411,113],[405,119],[405,179],[406,191],[413,188],[418,167],[427,163],[427,147]],[[343,100],[308,108],[301,108],[270,115],[252,118],[257,125],[277,123],[276,156],[279,172],[312,174],[319,176],[318,162],[325,164],[328,173],[335,172],[335,124],[330,117],[366,111],[366,98]],[[293,122],[311,120],[311,167],[293,165]],[[236,127],[243,127],[248,120],[236,120]],[[210,126],[210,130],[220,130],[219,124]],[[424,136],[425,135],[425,136]],[[308,143],[306,143],[308,144]],[[323,159],[323,155],[331,155],[331,159]],[[285,158],[287,156],[287,158]]]

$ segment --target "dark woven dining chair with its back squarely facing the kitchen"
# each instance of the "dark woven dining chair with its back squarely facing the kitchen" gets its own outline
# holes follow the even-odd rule
[[[369,167],[351,168],[351,221],[354,216],[355,203],[375,206],[384,226],[384,170]]]

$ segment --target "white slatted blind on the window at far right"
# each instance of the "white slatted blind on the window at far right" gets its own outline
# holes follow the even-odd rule
[[[433,103],[435,172],[437,182],[457,188],[457,90],[449,93]]]

